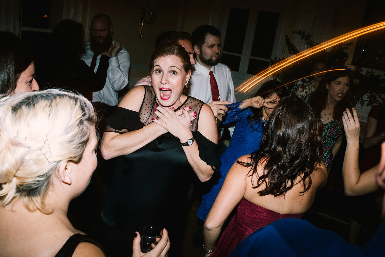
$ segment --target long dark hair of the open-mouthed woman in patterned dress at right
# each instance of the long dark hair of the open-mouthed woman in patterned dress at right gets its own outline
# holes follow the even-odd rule
[[[318,88],[310,95],[309,105],[313,108],[314,112],[317,114],[317,117],[320,116],[321,111],[326,108],[326,98],[328,96],[329,89],[326,88],[326,84],[330,85],[332,81],[340,77],[349,77],[350,85],[349,91],[346,95],[338,102],[336,107],[334,108],[333,118],[341,119],[343,111],[346,108],[351,109],[354,105],[354,97],[353,97],[353,78],[350,70],[344,71],[335,71],[335,72],[327,72],[325,76],[320,81]]]

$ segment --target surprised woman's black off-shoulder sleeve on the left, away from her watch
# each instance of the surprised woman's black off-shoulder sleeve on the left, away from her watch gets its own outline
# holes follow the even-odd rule
[[[105,119],[110,128],[120,131],[127,129],[134,131],[143,128],[144,124],[139,119],[139,113],[117,106],[111,115]]]

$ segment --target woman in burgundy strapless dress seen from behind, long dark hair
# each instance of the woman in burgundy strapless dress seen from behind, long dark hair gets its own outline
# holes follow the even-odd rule
[[[228,256],[258,228],[280,218],[301,218],[327,177],[314,112],[298,97],[281,99],[259,150],[239,158],[226,176],[204,223],[206,256]],[[238,203],[237,215],[215,247],[223,223]]]

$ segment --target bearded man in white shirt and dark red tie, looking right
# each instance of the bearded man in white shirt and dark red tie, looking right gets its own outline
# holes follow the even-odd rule
[[[219,63],[221,34],[213,26],[202,25],[192,32],[191,43],[196,54],[196,64],[189,81],[189,96],[208,104],[215,118],[222,121],[222,116],[227,112],[225,104],[236,100],[230,69]],[[232,135],[234,127],[229,128],[229,131]]]

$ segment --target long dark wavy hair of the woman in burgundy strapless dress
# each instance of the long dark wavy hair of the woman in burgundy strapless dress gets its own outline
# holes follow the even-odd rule
[[[237,161],[250,167],[247,176],[256,175],[253,188],[266,185],[260,196],[280,196],[289,191],[300,177],[305,194],[311,187],[311,173],[322,160],[322,126],[314,111],[296,96],[284,97],[274,109],[266,125],[259,150],[251,153],[250,162]],[[257,166],[266,160],[263,175]]]

